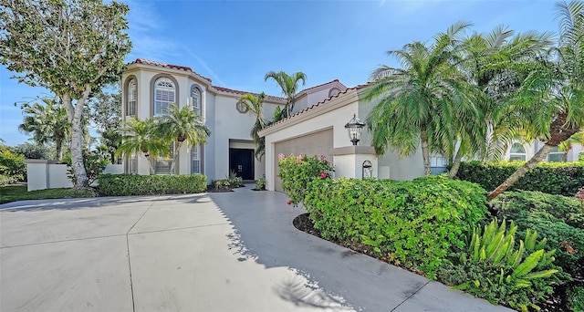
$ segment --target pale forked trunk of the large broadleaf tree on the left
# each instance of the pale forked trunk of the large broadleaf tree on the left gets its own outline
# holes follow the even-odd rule
[[[69,150],[71,151],[71,167],[76,179],[74,185],[76,189],[83,189],[89,186],[88,175],[83,164],[83,124],[81,118],[83,117],[85,101],[89,98],[90,93],[91,86],[88,85],[75,106],[73,106],[70,95],[66,94],[61,97],[65,110],[67,110],[68,121],[71,124],[71,145]]]

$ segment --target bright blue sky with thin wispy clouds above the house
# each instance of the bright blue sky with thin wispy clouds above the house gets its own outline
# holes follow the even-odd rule
[[[473,23],[470,32],[558,31],[555,1],[547,0],[122,2],[130,5],[127,61],[188,66],[215,86],[276,96],[276,83],[264,81],[270,70],[302,71],[306,88],[336,78],[353,87],[377,66],[396,65],[386,51],[431,41],[460,20]],[[0,138],[10,146],[28,139],[14,103],[49,94],[13,75],[0,66]]]

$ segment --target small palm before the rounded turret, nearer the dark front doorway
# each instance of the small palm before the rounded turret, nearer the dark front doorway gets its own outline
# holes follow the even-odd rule
[[[211,130],[203,124],[201,116],[188,106],[179,109],[176,104],[172,104],[166,109],[166,114],[159,117],[157,121],[156,132],[167,141],[175,143],[171,174],[174,173],[174,166],[183,142],[190,147],[195,147],[198,144],[205,144],[211,135]]]

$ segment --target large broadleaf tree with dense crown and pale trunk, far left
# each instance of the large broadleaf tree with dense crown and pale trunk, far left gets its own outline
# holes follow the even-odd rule
[[[0,63],[20,82],[51,90],[71,124],[76,187],[88,185],[82,118],[89,95],[119,80],[130,52],[128,5],[101,0],[2,0]]]

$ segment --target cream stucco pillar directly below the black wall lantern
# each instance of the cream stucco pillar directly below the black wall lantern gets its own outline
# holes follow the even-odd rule
[[[335,178],[362,179],[378,177],[378,161],[375,151],[370,146],[345,146],[332,151],[335,165]],[[363,168],[363,167],[367,168]]]

